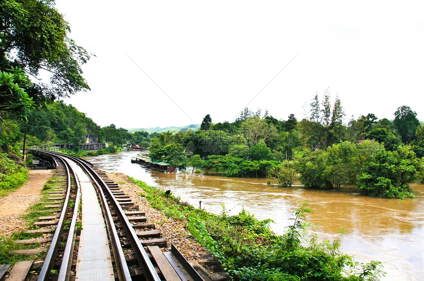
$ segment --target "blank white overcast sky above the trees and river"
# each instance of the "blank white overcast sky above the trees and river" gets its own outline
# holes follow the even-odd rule
[[[247,104],[301,120],[303,105],[327,87],[346,122],[370,112],[393,119],[401,105],[424,120],[422,1],[56,0],[56,7],[70,37],[96,55],[83,66],[91,92],[65,102],[102,127],[183,126],[206,114],[231,122]]]

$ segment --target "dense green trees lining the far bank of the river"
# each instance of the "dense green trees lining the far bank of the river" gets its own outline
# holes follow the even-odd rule
[[[300,122],[293,114],[280,121],[268,112],[261,117],[260,110],[253,113],[248,108],[234,123],[213,124],[207,114],[196,132],[162,133],[154,142],[153,158],[171,159],[169,155],[177,155],[174,150],[180,149],[189,155],[187,165],[192,171],[197,167],[222,176],[267,176],[278,186],[290,186],[298,174],[307,188],[358,184],[370,196],[412,197],[408,183],[420,177],[422,165],[417,163],[424,156],[424,130],[416,112],[407,106],[399,107],[394,116],[392,122],[369,113],[344,125],[341,101],[336,97],[331,105],[326,90],[322,102],[315,95],[309,116]],[[164,138],[171,142],[164,143]],[[409,151],[407,159],[398,151]],[[381,154],[397,159],[396,171],[372,170],[373,163],[388,165],[378,158]],[[183,163],[173,160],[177,162]]]

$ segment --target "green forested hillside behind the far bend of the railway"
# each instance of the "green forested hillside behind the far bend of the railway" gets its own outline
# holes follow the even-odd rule
[[[43,107],[28,110],[28,123],[19,120],[4,119],[0,122],[0,145],[7,145],[8,151],[19,153],[26,134],[26,147],[52,143],[109,142],[108,153],[117,152],[120,147],[139,145],[150,146],[150,140],[158,134],[143,131],[129,133],[115,125],[101,128],[91,118],[79,112],[72,105],[62,101],[53,102]],[[78,150],[79,145],[74,145]],[[3,149],[5,150],[5,149]],[[104,154],[103,151],[96,153]]]

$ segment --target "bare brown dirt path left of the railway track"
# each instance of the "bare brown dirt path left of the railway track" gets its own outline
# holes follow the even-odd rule
[[[40,191],[52,173],[53,170],[31,170],[26,183],[0,199],[0,237],[26,228],[19,216],[39,200]]]

